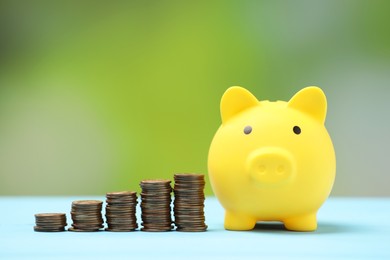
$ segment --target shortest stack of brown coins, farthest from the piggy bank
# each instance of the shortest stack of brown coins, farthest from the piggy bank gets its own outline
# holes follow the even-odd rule
[[[35,231],[38,232],[59,232],[65,231],[65,213],[39,213],[35,214]]]

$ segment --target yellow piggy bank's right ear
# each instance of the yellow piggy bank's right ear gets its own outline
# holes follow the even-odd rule
[[[288,107],[302,111],[321,123],[325,122],[326,97],[318,87],[306,87],[300,90],[290,99]]]

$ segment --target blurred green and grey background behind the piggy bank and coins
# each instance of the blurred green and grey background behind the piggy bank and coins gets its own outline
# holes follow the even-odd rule
[[[207,174],[232,85],[318,85],[332,195],[390,195],[390,1],[0,1],[0,194]],[[206,193],[212,194],[210,186]]]

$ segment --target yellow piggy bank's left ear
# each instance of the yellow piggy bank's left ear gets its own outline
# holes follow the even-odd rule
[[[257,106],[259,101],[248,90],[242,87],[230,87],[221,99],[221,117],[222,124],[228,121],[236,114]]]

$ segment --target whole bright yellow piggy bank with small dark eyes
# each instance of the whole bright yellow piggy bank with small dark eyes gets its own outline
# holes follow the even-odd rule
[[[317,211],[336,173],[323,91],[307,87],[288,102],[270,102],[231,87],[220,110],[222,125],[210,145],[208,171],[225,209],[225,229],[280,221],[288,230],[316,230]]]

